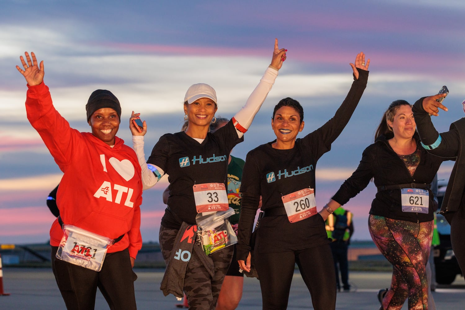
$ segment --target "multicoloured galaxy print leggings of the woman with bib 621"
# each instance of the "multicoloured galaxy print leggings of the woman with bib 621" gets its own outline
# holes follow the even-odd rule
[[[433,221],[412,223],[382,216],[368,218],[370,235],[392,264],[391,287],[383,299],[385,310],[400,310],[408,297],[409,310],[428,309],[426,262],[431,249]]]

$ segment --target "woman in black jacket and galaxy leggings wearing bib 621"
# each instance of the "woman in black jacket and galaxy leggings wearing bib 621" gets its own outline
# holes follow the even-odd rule
[[[391,103],[375,133],[375,142],[362,154],[352,176],[345,180],[323,217],[355,197],[373,179],[378,188],[372,201],[368,229],[379,251],[392,264],[389,289],[380,290],[380,309],[428,307],[428,261],[433,230],[431,182],[447,158],[429,154],[420,144],[412,106],[405,100]]]

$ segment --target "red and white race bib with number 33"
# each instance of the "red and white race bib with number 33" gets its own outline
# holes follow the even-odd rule
[[[197,213],[229,209],[224,183],[196,184],[193,186],[193,191]]]

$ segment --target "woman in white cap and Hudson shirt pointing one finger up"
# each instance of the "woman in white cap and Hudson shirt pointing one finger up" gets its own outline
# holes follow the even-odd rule
[[[163,135],[147,161],[143,151],[146,124],[144,122],[140,133],[133,125],[133,119],[139,118],[139,114],[133,114],[130,119],[133,147],[142,166],[144,188],[155,185],[164,174],[169,175],[168,207],[159,233],[160,248],[167,264],[161,289],[165,295],[173,293],[179,298],[184,291],[189,309],[215,308],[233,255],[230,246],[206,256],[197,244],[195,218],[198,211],[203,212],[201,201],[218,197],[199,198],[194,195],[194,186],[224,185],[227,182],[228,155],[243,141],[243,134],[271,90],[284,60],[286,50],[278,48],[276,39],[271,65],[246,105],[214,133],[209,132],[209,126],[216,121],[215,90],[203,83],[189,87],[184,98],[184,118],[188,120],[186,131]],[[226,190],[224,194],[226,197]]]

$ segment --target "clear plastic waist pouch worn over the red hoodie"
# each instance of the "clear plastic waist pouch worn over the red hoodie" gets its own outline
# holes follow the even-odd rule
[[[56,257],[70,264],[100,271],[106,251],[114,239],[70,224],[63,224],[63,232]]]

